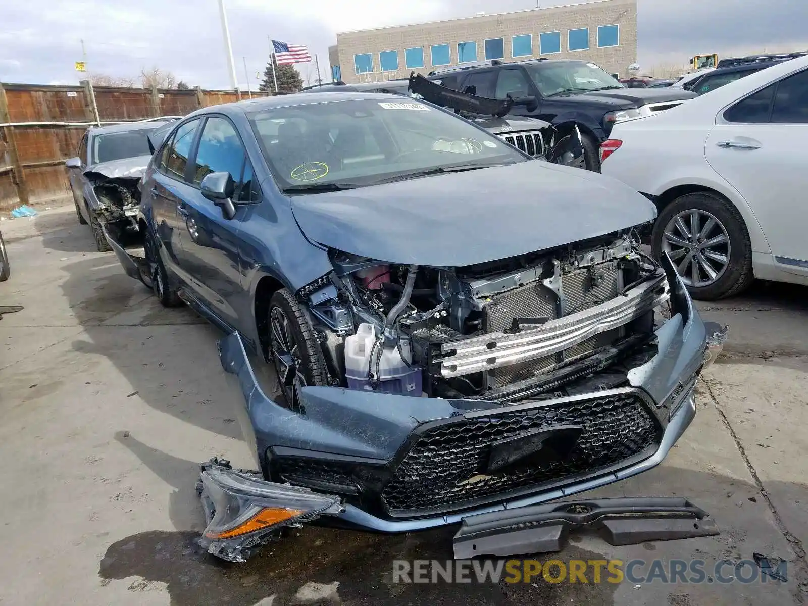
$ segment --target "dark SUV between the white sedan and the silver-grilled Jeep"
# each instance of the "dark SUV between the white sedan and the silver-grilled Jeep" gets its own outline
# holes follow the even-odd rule
[[[614,124],[696,96],[671,88],[629,89],[594,63],[571,59],[484,61],[436,70],[429,78],[480,97],[510,96],[515,101],[511,114],[546,120],[561,137],[578,126],[589,170],[600,170],[598,149]]]

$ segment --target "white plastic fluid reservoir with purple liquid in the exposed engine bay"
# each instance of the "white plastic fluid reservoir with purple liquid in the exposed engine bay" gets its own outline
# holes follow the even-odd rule
[[[377,340],[376,326],[372,324],[360,324],[356,335],[345,339],[345,377],[349,389],[373,390],[368,368],[373,343]],[[377,347],[381,347],[381,343]],[[375,354],[378,355],[378,349]],[[372,371],[377,371],[376,364],[373,364]],[[421,397],[421,368],[407,366],[398,353],[398,348],[385,349],[382,352],[378,372],[379,385],[376,391]]]

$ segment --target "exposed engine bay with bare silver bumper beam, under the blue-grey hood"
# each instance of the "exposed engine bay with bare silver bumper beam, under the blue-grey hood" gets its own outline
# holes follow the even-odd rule
[[[415,397],[518,402],[565,369],[650,356],[668,297],[633,230],[471,267],[330,258],[297,292],[330,385]]]

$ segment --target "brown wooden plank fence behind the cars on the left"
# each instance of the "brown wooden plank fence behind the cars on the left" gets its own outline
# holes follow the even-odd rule
[[[199,87],[162,90],[90,88],[89,82],[82,86],[0,83],[0,210],[69,196],[65,160],[76,155],[86,128],[97,120],[103,124],[184,116],[200,107],[237,100],[232,90]]]

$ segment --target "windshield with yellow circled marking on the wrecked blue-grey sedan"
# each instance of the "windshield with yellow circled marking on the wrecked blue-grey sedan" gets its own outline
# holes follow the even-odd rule
[[[528,158],[417,99],[351,99],[249,116],[280,187],[327,191]]]

